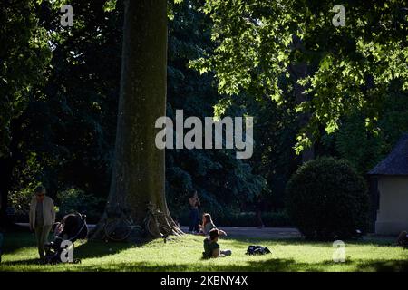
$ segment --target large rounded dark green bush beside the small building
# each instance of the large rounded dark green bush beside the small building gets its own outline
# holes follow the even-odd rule
[[[308,161],[287,184],[287,211],[308,238],[352,237],[367,226],[364,179],[346,160]]]

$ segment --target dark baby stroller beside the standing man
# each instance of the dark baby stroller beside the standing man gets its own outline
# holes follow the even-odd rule
[[[88,236],[88,226],[86,216],[80,213],[72,213],[63,217],[60,223],[54,224],[54,240],[45,245],[45,264],[56,264],[63,262],[61,254],[64,247],[63,241],[70,241],[72,244],[81,238]],[[81,260],[74,259],[73,263],[81,263]]]

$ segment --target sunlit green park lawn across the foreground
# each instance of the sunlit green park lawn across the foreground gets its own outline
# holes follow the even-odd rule
[[[232,249],[233,255],[203,260],[202,240],[185,235],[139,246],[77,241],[74,257],[81,258],[81,264],[43,266],[36,260],[33,234],[6,234],[0,271],[408,271],[408,250],[393,246],[393,240],[345,242],[345,263],[333,262],[331,243],[301,239],[223,238],[221,248]],[[252,244],[266,246],[272,254],[245,255]]]

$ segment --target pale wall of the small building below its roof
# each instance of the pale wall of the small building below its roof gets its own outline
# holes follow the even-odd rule
[[[380,193],[375,233],[397,235],[408,230],[408,176],[378,179]]]

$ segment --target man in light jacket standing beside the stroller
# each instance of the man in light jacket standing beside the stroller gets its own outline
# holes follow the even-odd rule
[[[34,198],[30,204],[30,230],[35,231],[38,254],[44,259],[44,244],[48,242],[48,235],[55,222],[53,199],[45,197],[45,189],[39,186],[35,189]]]

